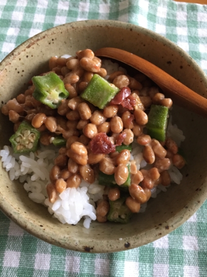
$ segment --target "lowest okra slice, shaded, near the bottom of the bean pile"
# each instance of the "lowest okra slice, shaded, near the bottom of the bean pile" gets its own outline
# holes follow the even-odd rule
[[[132,212],[125,204],[126,197],[121,197],[115,201],[109,200],[110,210],[107,220],[120,223],[128,223],[132,217]]]

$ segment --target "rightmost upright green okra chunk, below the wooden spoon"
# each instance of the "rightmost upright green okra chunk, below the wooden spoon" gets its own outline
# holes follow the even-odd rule
[[[165,106],[151,105],[146,124],[147,134],[152,139],[165,141],[169,109]]]

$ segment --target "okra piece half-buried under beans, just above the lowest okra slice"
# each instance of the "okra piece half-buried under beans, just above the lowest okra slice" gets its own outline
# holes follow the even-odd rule
[[[131,177],[130,177],[130,164],[127,165],[129,170],[129,175],[126,180],[126,182],[123,185],[117,185],[114,174],[108,175],[103,173],[102,171],[99,171],[99,185],[106,185],[110,187],[118,187],[123,190],[128,190],[130,184],[131,184]]]

